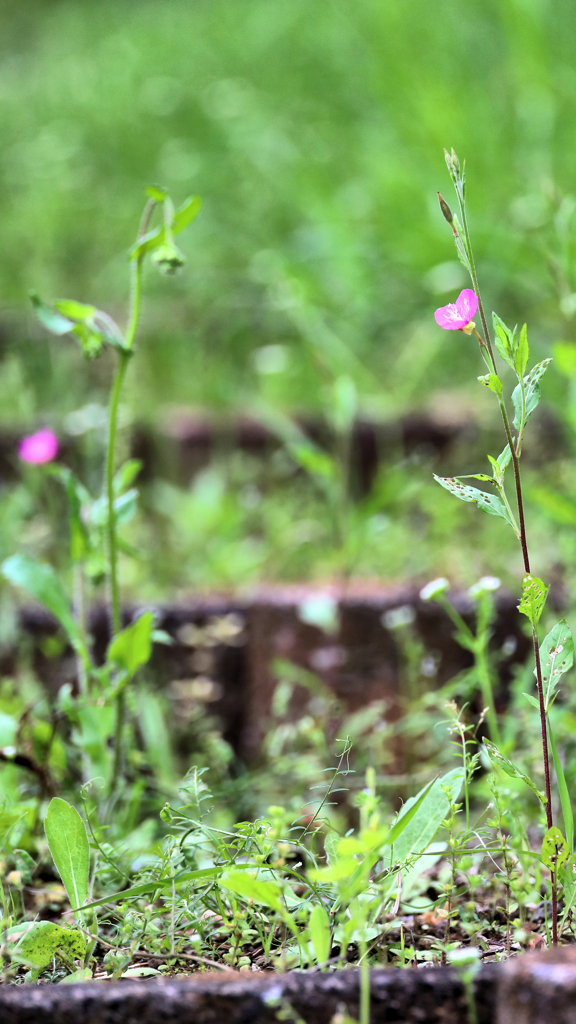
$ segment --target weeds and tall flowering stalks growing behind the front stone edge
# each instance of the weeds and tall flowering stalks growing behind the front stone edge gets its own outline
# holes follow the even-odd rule
[[[480,381],[498,400],[505,446],[498,458],[489,457],[491,473],[471,477],[492,490],[463,482],[470,477],[439,482],[503,521],[520,542],[520,611],[530,624],[534,664],[519,673],[507,713],[498,714],[499,652],[490,638],[499,581],[484,577],[471,589],[474,615],[466,620],[450,601],[447,581],[437,579],[421,596],[444,605],[471,655],[468,672],[430,693],[410,623],[399,615],[407,684],[402,719],[390,720],[381,703],[346,717],[314,676],[279,665],[259,766],[235,763],[217,731],[199,722],[197,763],[177,777],[162,702],[138,684],[153,645],[169,638],[149,610],[122,627],[118,579],[119,551],[131,554],[122,526],[137,501],[137,466],[118,468],[116,449],[122,387],[135,353],[142,265],[150,257],[164,273],[178,269],[183,259],[174,238],[200,209],[192,197],[175,210],[164,190],[150,188],[130,251],[126,330],[94,306],[72,300],[49,305],[33,297],[47,330],[75,336],[90,358],[111,348],[117,369],[104,495],[92,496],[69,469],[52,469],[69,506],[74,600],[45,562],[13,554],[2,566],[12,585],[55,616],[77,658],[75,685],[63,686],[52,707],[37,692],[27,699],[9,683],[2,692],[0,729],[10,737],[2,750],[0,812],[5,982],[356,964],[366,1021],[370,965],[425,967],[451,959],[469,973],[482,958],[573,940],[574,698],[559,684],[572,668],[574,646],[565,621],[540,642],[547,587],[529,561],[520,475],[525,427],[547,360],[528,370],[526,328],[509,330],[494,314],[490,333],[464,173],[453,153],[447,162],[459,215],[442,199],[441,208],[474,287],[439,309],[437,321],[478,339],[489,371]],[[472,321],[477,309],[482,334]],[[509,377],[500,376],[493,346],[517,381],[512,424],[504,398]],[[340,377],[334,395],[336,425],[345,435],[354,389]],[[319,477],[333,528],[344,538],[349,510],[341,464],[337,457],[323,459],[292,425],[283,430],[296,457]],[[47,466],[52,454],[48,436],[36,436],[23,450],[23,458]],[[505,481],[510,469],[513,498]],[[344,562],[340,570],[349,567]],[[86,629],[86,585],[98,575],[107,580],[111,610],[104,664],[95,664]],[[296,686],[308,698],[294,720]],[[395,744],[405,770],[390,793],[390,769],[398,777]],[[29,757],[26,778],[20,750]],[[152,752],[154,770],[146,762]],[[421,774],[426,777],[418,787]],[[52,796],[54,787],[59,792]],[[239,807],[249,812],[242,820]]]

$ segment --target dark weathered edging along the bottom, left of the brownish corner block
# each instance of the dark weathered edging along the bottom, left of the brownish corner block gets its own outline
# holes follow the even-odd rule
[[[478,1024],[496,1022],[496,979],[476,980]],[[374,969],[372,1024],[467,1024],[465,993],[449,968]],[[339,1008],[358,1019],[359,972],[260,977],[203,974],[152,981],[0,987],[2,1024],[273,1024],[288,1007],[306,1024],[329,1024]],[[284,1018],[284,1014],[282,1015]],[[288,1015],[284,1019],[289,1019]]]

